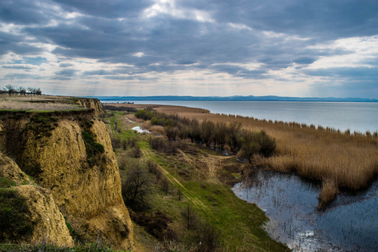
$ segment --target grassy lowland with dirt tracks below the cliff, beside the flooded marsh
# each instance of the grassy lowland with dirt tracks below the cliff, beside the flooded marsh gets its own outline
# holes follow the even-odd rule
[[[201,111],[201,110],[200,110]],[[121,180],[127,179],[128,170],[137,163],[146,169],[148,160],[157,163],[162,178],[157,181],[155,175],[148,173],[153,180],[153,192],[147,215],[163,212],[172,219],[169,228],[177,239],[187,246],[199,244],[205,227],[211,227],[216,234],[216,247],[213,251],[288,251],[285,245],[272,240],[262,229],[267,221],[264,212],[256,205],[238,199],[228,184],[237,181],[235,176],[243,164],[235,156],[220,155],[204,146],[181,142],[174,154],[156,151],[150,147],[150,138],[157,136],[140,134],[131,130],[141,125],[133,114],[113,112],[104,119],[111,137],[119,140],[134,139],[141,148],[141,157],[132,157],[130,146],[115,148],[117,160],[126,160],[125,169],[120,169]],[[167,141],[168,142],[168,141]],[[162,180],[169,181],[165,191]],[[181,199],[180,199],[181,195]],[[198,219],[197,225],[187,229],[181,212],[187,206],[192,207]],[[132,219],[140,214],[130,209]],[[134,217],[133,217],[134,216]],[[156,238],[146,232],[146,227],[135,226],[135,241],[138,251],[153,251]],[[210,232],[210,233],[211,233]],[[204,239],[204,237],[202,237]],[[204,241],[202,241],[204,242]]]

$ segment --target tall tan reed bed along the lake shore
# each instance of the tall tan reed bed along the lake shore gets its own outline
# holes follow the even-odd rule
[[[276,154],[267,159],[256,159],[256,162],[268,169],[296,172],[319,181],[327,177],[335,181],[337,187],[352,190],[368,186],[374,174],[378,173],[378,138],[372,135],[349,135],[297,123],[202,113],[179,106],[154,105],[154,109],[200,121],[237,121],[249,130],[265,130],[276,139]]]

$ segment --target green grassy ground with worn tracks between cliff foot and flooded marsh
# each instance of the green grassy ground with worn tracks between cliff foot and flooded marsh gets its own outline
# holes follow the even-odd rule
[[[129,114],[132,115],[132,114]],[[143,155],[139,159],[130,157],[130,150],[118,148],[115,150],[117,159],[122,155],[128,156],[128,167],[136,162],[145,164],[146,160],[156,161],[162,168],[162,172],[171,182],[171,188],[168,195],[160,190],[159,184],[156,184],[156,190],[153,194],[152,209],[150,212],[159,210],[170,215],[173,220],[173,226],[176,230],[181,230],[181,236],[184,239],[190,239],[193,231],[184,228],[183,218],[180,215],[188,202],[190,202],[199,213],[202,223],[208,222],[220,234],[220,243],[223,251],[286,251],[288,248],[272,240],[261,228],[267,221],[267,217],[257,206],[248,204],[238,199],[231,188],[220,182],[220,174],[234,175],[227,167],[240,166],[233,157],[224,157],[216,152],[202,147],[192,145],[197,148],[197,153],[191,154],[180,151],[176,155],[167,155],[165,153],[152,150],[148,144],[151,136],[137,134],[130,130],[138,123],[132,123],[125,118],[123,112],[115,112],[115,116],[107,118],[109,122],[110,133],[117,138],[137,138],[138,145],[141,147]],[[130,116],[129,116],[130,117]],[[122,130],[121,134],[114,130],[114,122],[117,121],[117,127]],[[191,145],[186,143],[186,145]],[[180,171],[185,171],[184,173]],[[121,179],[125,179],[127,170],[120,170]],[[184,175],[182,175],[184,174]],[[174,192],[180,190],[183,199],[178,200]],[[148,235],[143,234],[140,228],[137,229],[137,242],[149,243],[146,248],[151,249],[153,241],[149,240]]]

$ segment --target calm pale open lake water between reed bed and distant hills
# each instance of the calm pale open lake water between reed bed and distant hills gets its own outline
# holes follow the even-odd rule
[[[110,101],[105,101],[110,103]],[[124,101],[112,101],[122,103]],[[378,103],[353,102],[232,102],[232,101],[129,101],[135,104],[179,105],[204,108],[211,113],[295,121],[345,131],[378,130]]]

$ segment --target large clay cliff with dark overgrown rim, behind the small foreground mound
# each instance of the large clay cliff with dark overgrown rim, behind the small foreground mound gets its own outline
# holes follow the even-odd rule
[[[106,125],[97,118],[104,110],[98,100],[78,103],[89,110],[2,115],[0,144],[23,172],[51,192],[80,240],[102,238],[113,248],[133,248],[117,162]]]

